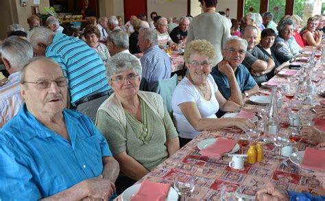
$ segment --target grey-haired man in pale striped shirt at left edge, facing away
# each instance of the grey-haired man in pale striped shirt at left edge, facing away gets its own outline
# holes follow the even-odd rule
[[[19,36],[10,36],[3,41],[1,58],[10,75],[8,82],[0,87],[0,128],[23,106],[19,75],[29,59],[33,58],[32,45]]]

